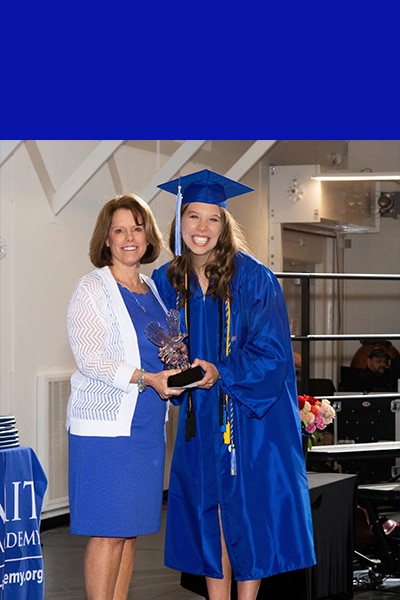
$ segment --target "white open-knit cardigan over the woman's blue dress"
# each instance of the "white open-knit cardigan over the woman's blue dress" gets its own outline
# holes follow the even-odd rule
[[[140,276],[166,308],[154,282]],[[77,371],[71,377],[67,429],[75,435],[129,436],[140,369],[135,328],[109,267],[77,283],[67,311],[68,337]]]

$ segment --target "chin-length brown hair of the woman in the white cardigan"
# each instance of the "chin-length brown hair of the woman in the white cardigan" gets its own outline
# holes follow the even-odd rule
[[[135,194],[116,196],[106,202],[99,212],[90,240],[89,257],[91,262],[95,267],[112,265],[111,251],[106,245],[106,240],[110,233],[114,213],[119,208],[130,210],[136,224],[144,227],[148,246],[140,262],[142,264],[154,262],[163,249],[163,238],[149,205]]]

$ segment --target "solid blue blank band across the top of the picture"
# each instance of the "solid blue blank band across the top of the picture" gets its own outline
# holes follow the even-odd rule
[[[398,138],[399,7],[351,8],[8,6],[1,138]]]

